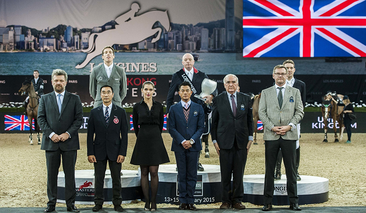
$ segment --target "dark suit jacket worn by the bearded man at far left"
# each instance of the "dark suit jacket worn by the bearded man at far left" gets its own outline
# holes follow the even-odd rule
[[[79,150],[78,130],[82,124],[83,113],[80,97],[65,91],[61,114],[58,112],[56,94],[54,91],[41,96],[38,107],[38,124],[42,129],[41,150],[62,151]],[[70,138],[54,143],[49,135],[69,132]]]

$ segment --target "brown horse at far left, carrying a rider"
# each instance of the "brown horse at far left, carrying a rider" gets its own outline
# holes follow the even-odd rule
[[[36,94],[36,91],[34,89],[33,83],[30,81],[24,81],[22,84],[22,87],[19,89],[20,95],[25,95],[28,93],[29,95],[29,103],[26,108],[26,114],[28,117],[29,122],[29,145],[33,145],[33,128],[32,128],[32,121],[35,120],[35,130],[37,131],[37,138],[38,138],[38,144],[41,144],[40,139],[40,127],[38,126],[37,122],[37,115],[38,115],[38,104],[39,104],[39,97]]]

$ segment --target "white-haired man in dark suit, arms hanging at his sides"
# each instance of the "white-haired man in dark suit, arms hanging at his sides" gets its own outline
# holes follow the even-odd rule
[[[229,74],[224,78],[226,92],[212,104],[212,142],[220,157],[222,205],[245,209],[243,174],[249,149],[253,142],[253,115],[249,95],[237,92],[238,78]],[[231,189],[231,175],[233,188]]]

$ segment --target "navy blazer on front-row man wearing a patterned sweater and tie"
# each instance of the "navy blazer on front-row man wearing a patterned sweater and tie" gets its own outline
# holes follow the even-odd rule
[[[184,152],[186,149],[181,145],[183,140],[194,139],[195,143],[190,151],[201,151],[200,137],[204,130],[204,112],[200,104],[191,101],[188,122],[184,116],[180,101],[170,107],[169,110],[169,133],[173,138],[171,151]]]

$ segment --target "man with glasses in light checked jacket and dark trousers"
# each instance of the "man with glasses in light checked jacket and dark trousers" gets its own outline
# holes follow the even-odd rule
[[[303,117],[300,91],[286,85],[287,68],[277,65],[272,78],[275,85],[262,91],[259,101],[259,119],[263,122],[265,141],[264,206],[272,209],[275,164],[281,148],[287,177],[287,194],[290,209],[301,210],[298,205],[296,185],[296,125]]]

